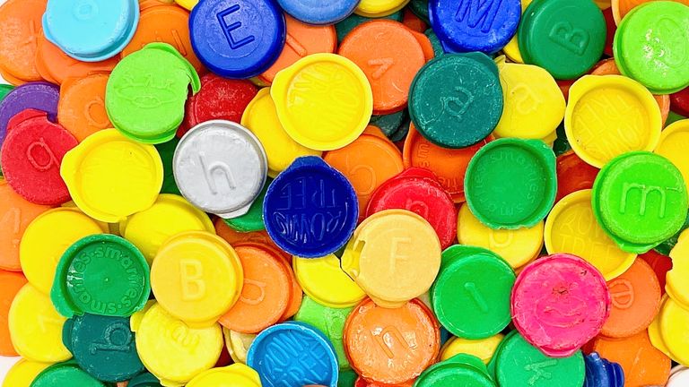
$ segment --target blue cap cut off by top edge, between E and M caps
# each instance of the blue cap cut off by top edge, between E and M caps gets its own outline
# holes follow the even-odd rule
[[[351,15],[361,0],[277,0],[284,12],[309,24],[335,24]]]

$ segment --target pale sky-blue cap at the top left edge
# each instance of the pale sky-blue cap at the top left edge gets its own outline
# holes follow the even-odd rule
[[[137,0],[48,0],[43,33],[68,56],[100,62],[129,44],[138,23]]]

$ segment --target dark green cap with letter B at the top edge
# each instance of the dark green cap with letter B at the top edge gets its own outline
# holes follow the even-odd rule
[[[603,55],[606,20],[589,0],[534,0],[519,23],[524,63],[545,68],[555,79],[589,71]]]

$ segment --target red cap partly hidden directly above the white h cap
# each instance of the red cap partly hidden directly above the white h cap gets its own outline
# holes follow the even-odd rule
[[[201,90],[187,99],[184,122],[179,127],[181,137],[196,125],[222,119],[239,123],[257,95],[257,87],[245,80],[222,78],[214,73],[201,77]]]

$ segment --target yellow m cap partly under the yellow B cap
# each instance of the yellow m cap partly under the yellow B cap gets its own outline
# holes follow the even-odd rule
[[[222,351],[220,325],[189,327],[157,303],[132,324],[132,330],[142,363],[168,387],[182,386],[211,369]]]

